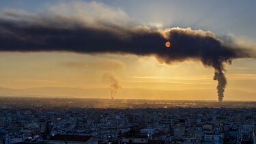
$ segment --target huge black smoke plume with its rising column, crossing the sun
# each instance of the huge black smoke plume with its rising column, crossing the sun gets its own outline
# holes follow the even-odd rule
[[[250,49],[225,44],[210,31],[98,24],[100,27],[88,26],[61,16],[1,16],[0,51],[152,55],[164,63],[197,60],[216,70],[214,79],[218,81],[219,101],[223,100],[227,85],[223,63],[255,57]],[[167,41],[171,42],[171,48],[165,47]]]

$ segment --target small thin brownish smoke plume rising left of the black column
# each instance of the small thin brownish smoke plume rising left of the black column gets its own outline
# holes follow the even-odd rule
[[[104,78],[105,81],[108,81],[109,83],[111,83],[111,85],[109,85],[109,90],[110,90],[110,98],[111,100],[113,100],[115,98],[115,95],[117,94],[117,91],[119,89],[122,89],[122,87],[119,85],[117,78],[115,78],[113,74],[104,73],[102,77]]]

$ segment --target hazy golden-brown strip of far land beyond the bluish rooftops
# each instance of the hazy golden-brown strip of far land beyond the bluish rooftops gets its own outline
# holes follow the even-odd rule
[[[1,109],[255,109],[255,101],[1,97]]]

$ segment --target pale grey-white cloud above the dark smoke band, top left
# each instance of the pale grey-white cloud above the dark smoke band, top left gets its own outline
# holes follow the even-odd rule
[[[104,29],[106,25],[124,25],[132,20],[119,8],[113,8],[96,1],[72,1],[48,5],[48,13],[70,20],[77,20],[87,27]],[[109,29],[109,27],[106,27]]]

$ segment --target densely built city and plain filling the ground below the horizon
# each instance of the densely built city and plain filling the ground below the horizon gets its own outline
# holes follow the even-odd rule
[[[1,143],[255,143],[256,140],[255,102],[0,100]]]

